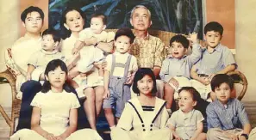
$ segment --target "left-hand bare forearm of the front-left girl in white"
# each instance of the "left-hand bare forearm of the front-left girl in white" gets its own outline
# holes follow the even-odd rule
[[[31,130],[36,131],[42,137],[46,139],[54,139],[54,135],[52,133],[48,133],[47,131],[43,130],[39,125],[41,118],[41,108],[40,107],[33,107],[32,112],[32,119],[31,119]]]

